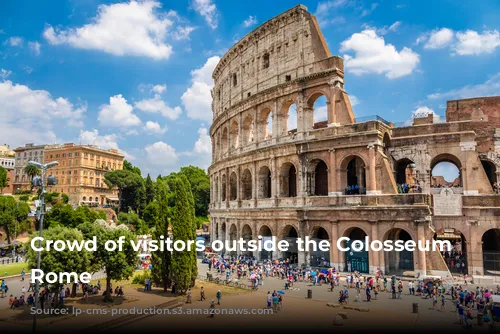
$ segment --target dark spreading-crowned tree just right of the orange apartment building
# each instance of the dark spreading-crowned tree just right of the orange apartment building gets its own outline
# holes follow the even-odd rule
[[[144,179],[129,170],[115,170],[104,174],[104,182],[109,188],[118,189],[119,211],[134,211],[140,207],[138,193],[144,187]]]

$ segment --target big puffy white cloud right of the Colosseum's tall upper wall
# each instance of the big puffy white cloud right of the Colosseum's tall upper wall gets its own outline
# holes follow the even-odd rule
[[[409,75],[420,62],[420,56],[407,47],[397,51],[386,44],[374,30],[355,33],[341,43],[341,52],[353,51],[355,56],[344,55],[346,68],[356,75],[385,74],[389,79]]]

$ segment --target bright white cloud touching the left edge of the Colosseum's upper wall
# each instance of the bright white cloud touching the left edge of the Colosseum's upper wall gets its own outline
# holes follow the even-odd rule
[[[182,104],[190,118],[212,121],[212,72],[220,57],[213,56],[196,70],[191,71],[191,87],[181,96]]]

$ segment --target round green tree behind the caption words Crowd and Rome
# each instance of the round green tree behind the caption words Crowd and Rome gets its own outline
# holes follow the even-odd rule
[[[31,235],[31,239],[38,236],[38,234]],[[76,241],[78,243],[84,241],[83,233],[75,228],[68,228],[63,226],[56,226],[46,229],[42,232],[44,240],[41,242],[42,248],[45,248],[47,240],[63,240],[64,242],[69,241],[70,243]],[[30,240],[31,243],[31,240]],[[38,245],[38,244],[37,244]],[[43,250],[41,253],[40,269],[44,272],[75,272],[82,273],[89,271],[91,268],[92,253],[82,249],[81,251],[70,251],[65,249],[63,251],[56,251],[51,248],[49,251]],[[28,266],[29,268],[37,267],[38,252],[34,251],[31,247],[28,247]],[[45,284],[45,286],[49,286]],[[58,282],[50,285],[53,291],[60,291],[64,287],[64,284]],[[72,296],[76,295],[76,283],[73,284]],[[57,301],[59,298],[57,298]]]

